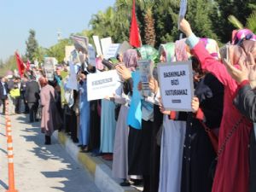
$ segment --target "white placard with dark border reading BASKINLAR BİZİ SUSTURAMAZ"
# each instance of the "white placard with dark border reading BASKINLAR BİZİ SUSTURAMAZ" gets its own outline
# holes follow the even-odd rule
[[[160,63],[157,69],[164,108],[171,111],[191,111],[194,96],[191,61]]]

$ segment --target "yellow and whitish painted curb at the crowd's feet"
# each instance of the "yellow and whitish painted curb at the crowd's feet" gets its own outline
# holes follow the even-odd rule
[[[61,143],[67,153],[84,169],[90,172],[93,177],[94,183],[98,189],[104,192],[138,192],[139,190],[132,187],[121,187],[120,179],[112,177],[111,169],[105,165],[102,160],[92,157],[86,153],[80,153],[79,148],[72,140],[63,132],[55,131],[53,137]]]

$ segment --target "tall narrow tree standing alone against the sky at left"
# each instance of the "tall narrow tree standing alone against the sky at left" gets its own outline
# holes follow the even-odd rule
[[[38,50],[38,41],[36,40],[36,32],[34,30],[29,30],[29,37],[26,41],[26,57],[30,61],[36,59],[36,52]]]

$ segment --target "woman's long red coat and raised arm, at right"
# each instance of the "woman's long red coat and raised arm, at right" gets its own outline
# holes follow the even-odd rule
[[[201,67],[212,73],[224,85],[224,115],[218,137],[218,165],[212,184],[212,192],[240,192],[248,191],[249,183],[249,134],[253,125],[233,105],[238,84],[232,79],[224,65],[216,61],[195,37],[189,22],[181,20],[183,31],[194,55],[201,63]],[[236,65],[245,59],[247,52],[244,41],[242,46],[236,46],[236,54],[230,53],[230,61]],[[254,53],[255,54],[255,53]],[[253,55],[256,58],[256,55]]]

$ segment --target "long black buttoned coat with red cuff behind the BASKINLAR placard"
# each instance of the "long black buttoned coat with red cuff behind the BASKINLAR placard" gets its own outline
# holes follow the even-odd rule
[[[218,128],[223,113],[224,87],[211,73],[195,83],[195,96],[199,98],[197,113],[184,113],[187,125],[183,145],[181,192],[211,192],[209,170],[216,157],[212,143],[201,120],[208,128]]]

